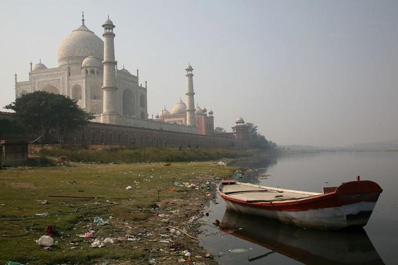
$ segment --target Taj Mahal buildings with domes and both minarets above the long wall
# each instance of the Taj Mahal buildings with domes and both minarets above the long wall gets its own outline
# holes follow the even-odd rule
[[[114,51],[115,24],[103,22],[102,39],[82,24],[66,36],[58,46],[58,67],[47,68],[39,60],[30,63],[29,80],[18,82],[15,74],[15,97],[36,90],[63,94],[77,100],[78,105],[94,114],[94,122],[172,132],[212,135],[213,111],[195,106],[193,70],[185,67],[185,101],[180,98],[171,112],[164,106],[155,117],[147,111],[147,81],[140,84],[139,71],[131,74],[118,69]],[[239,121],[238,121],[239,120]],[[243,125],[238,118],[237,125]],[[236,131],[236,130],[234,130]]]

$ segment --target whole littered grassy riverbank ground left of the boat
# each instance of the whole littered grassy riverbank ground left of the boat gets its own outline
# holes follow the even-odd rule
[[[197,220],[233,170],[214,162],[1,170],[0,264],[216,264],[203,257]],[[56,244],[45,249],[35,241],[48,226]]]

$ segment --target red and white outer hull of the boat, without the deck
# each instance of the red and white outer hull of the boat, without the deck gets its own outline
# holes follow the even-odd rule
[[[362,180],[343,183],[333,192],[304,199],[248,203],[225,195],[217,189],[227,209],[322,230],[365,226],[382,191],[377,183]]]

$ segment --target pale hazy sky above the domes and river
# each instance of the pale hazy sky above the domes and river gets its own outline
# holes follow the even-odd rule
[[[194,67],[195,102],[230,130],[242,116],[278,144],[398,139],[398,1],[1,1],[0,107],[29,62],[86,25],[116,25],[118,67],[148,81],[148,113],[171,110]]]

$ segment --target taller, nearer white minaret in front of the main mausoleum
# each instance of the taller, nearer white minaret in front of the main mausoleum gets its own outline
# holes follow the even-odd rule
[[[119,122],[119,98],[116,83],[116,61],[113,33],[113,22],[105,20],[102,25],[103,37],[103,113],[102,122],[118,124]]]

